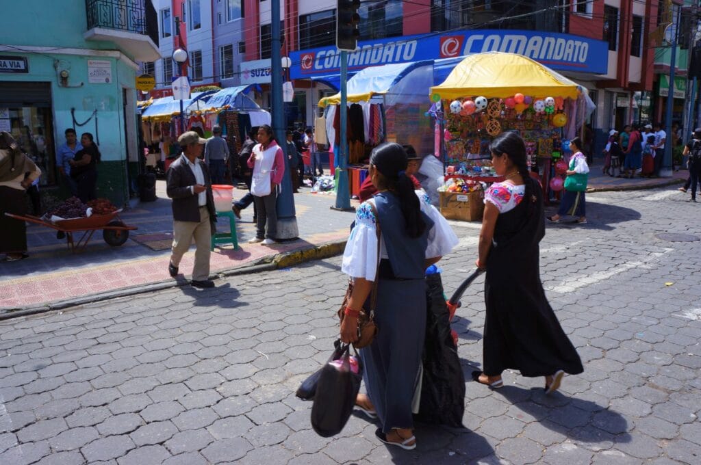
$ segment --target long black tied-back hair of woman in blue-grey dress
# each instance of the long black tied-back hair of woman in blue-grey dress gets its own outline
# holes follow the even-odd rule
[[[399,200],[404,225],[409,237],[420,237],[426,230],[421,204],[414,193],[414,183],[407,173],[407,153],[400,144],[390,142],[376,146],[370,153],[370,165],[381,174],[383,188],[391,190]],[[379,187],[379,186],[378,186]]]

